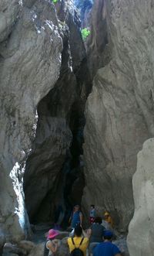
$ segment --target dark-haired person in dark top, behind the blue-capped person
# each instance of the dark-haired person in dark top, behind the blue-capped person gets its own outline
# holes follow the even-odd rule
[[[105,227],[102,226],[102,218],[95,217],[94,223],[88,230],[89,234],[89,254],[92,255],[93,248],[102,242]]]

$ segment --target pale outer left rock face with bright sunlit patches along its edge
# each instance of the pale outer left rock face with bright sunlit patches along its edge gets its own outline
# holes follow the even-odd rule
[[[0,24],[0,229],[6,240],[18,241],[28,234],[24,162],[37,104],[59,78],[62,39],[47,1],[1,1]]]

